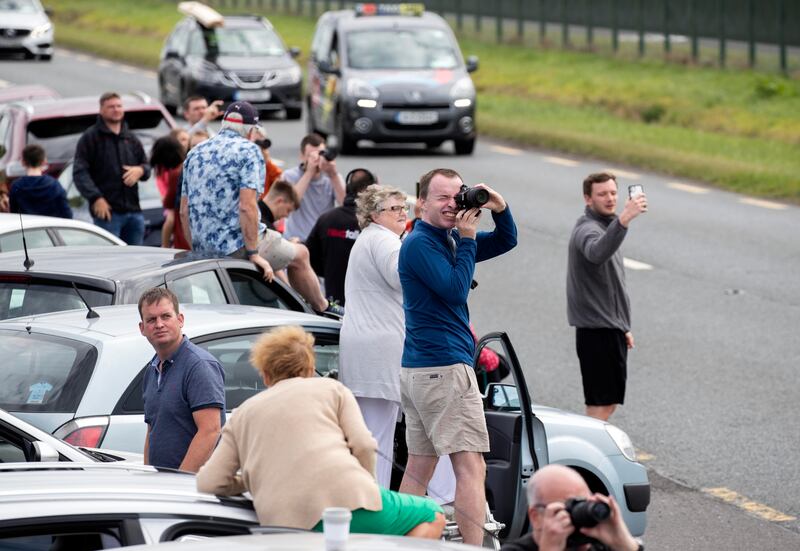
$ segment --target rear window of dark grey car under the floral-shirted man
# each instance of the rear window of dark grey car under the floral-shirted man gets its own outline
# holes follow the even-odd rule
[[[114,301],[110,292],[85,285],[77,287],[92,307],[108,306]],[[0,275],[0,319],[80,308],[86,305],[69,282]]]

